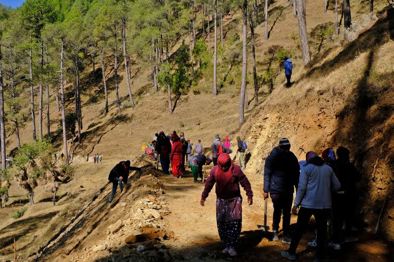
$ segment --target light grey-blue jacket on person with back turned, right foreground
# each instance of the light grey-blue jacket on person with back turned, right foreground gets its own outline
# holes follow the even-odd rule
[[[340,187],[332,169],[316,156],[302,167],[294,206],[331,208],[331,191],[338,191]]]

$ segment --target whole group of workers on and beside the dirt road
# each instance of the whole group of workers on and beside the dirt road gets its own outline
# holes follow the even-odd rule
[[[246,191],[248,205],[253,204],[251,183],[243,173],[246,143],[237,137],[240,162],[238,166],[231,160],[232,150],[228,137],[225,143],[222,143],[219,135],[215,135],[211,145],[212,159],[210,159],[203,154],[200,140],[195,146],[195,154],[191,155],[192,145],[190,141],[185,140],[183,132],[179,136],[175,131],[170,136],[166,136],[164,132],[156,135],[155,151],[160,158],[164,174],[170,174],[171,163],[173,175],[177,178],[181,177],[185,172],[186,160],[189,162],[194,181],[198,182],[199,176],[203,182],[203,166],[214,163],[206,178],[200,204],[204,206],[206,198],[216,184],[216,220],[219,236],[225,247],[223,253],[236,256],[235,248],[242,228],[242,196],[239,185]],[[361,174],[350,162],[350,151],[345,147],[338,147],[337,159],[334,150],[327,148],[322,156],[309,151],[305,155],[305,160],[299,162],[295,154],[290,151],[290,147],[287,138],[280,139],[278,146],[272,149],[264,164],[263,198],[265,200],[270,197],[274,207],[272,240],[279,241],[281,237],[283,243],[290,244],[286,251],[281,252],[281,256],[296,260],[297,246],[313,215],[316,221],[316,239],[309,245],[317,247],[315,261],[318,262],[325,257],[328,221],[332,225],[330,246],[334,250],[339,250],[340,243],[343,241],[358,240],[351,233],[357,200],[356,183],[361,180]],[[111,204],[118,184],[122,192],[122,181],[127,182],[130,170],[141,169],[131,167],[130,161],[122,161],[111,171],[108,179],[113,183],[113,187],[108,204]],[[296,189],[296,198],[293,204],[294,189]],[[293,232],[290,231],[291,214],[297,215]],[[279,235],[282,215],[283,233]],[[342,234],[343,225],[344,234]]]

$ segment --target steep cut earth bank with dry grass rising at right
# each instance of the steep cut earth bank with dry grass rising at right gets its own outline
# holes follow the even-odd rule
[[[348,147],[363,173],[359,204],[367,230],[394,192],[393,40],[390,10],[358,39],[296,74],[293,87],[275,88],[242,127],[252,148],[249,165],[260,173],[281,137],[290,139],[299,160],[309,150]],[[383,214],[382,232],[393,240],[393,200]]]

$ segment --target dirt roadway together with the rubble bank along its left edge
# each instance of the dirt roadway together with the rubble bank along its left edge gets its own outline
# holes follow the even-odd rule
[[[193,183],[189,172],[176,179],[158,172],[146,156],[137,161],[134,164],[145,170],[131,174],[131,183],[122,195],[118,190],[108,206],[111,185],[103,186],[61,233],[28,261],[286,261],[280,251],[288,244],[273,242],[270,232],[257,229],[257,224],[263,223],[260,175],[248,169],[245,172],[252,184],[254,203],[248,206],[244,201],[238,256],[230,257],[221,253],[214,192],[202,207],[203,184]],[[267,224],[271,227],[273,208],[268,203]],[[292,224],[295,222],[293,216]],[[313,261],[314,249],[307,246],[313,237],[312,221],[298,247],[300,261]],[[392,244],[367,233],[359,237],[357,243],[343,244],[341,251],[328,250],[329,261],[393,261]]]

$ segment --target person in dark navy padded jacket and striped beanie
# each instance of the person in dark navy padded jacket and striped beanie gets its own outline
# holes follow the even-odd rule
[[[298,187],[299,165],[297,157],[290,151],[290,141],[287,138],[279,140],[265,159],[264,164],[264,200],[271,196],[274,206],[272,218],[273,241],[279,241],[279,223],[283,213],[283,243],[290,243],[290,219],[293,203],[294,187]]]

